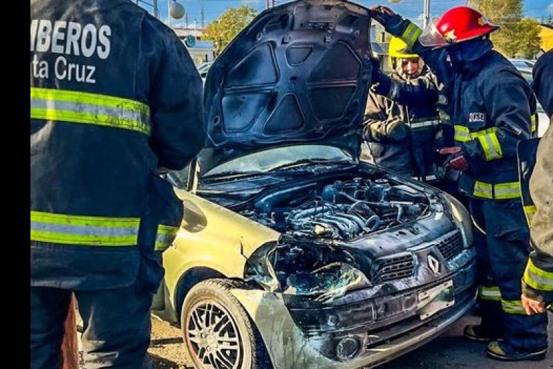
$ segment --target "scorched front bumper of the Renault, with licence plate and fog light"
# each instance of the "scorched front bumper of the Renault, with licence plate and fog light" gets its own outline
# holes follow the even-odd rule
[[[476,299],[476,262],[429,285],[367,299],[364,290],[310,306],[297,296],[232,290],[255,322],[274,368],[370,368],[444,332]]]

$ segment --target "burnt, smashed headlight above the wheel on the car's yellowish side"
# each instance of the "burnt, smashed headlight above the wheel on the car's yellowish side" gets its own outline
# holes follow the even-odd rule
[[[245,280],[268,290],[331,301],[371,286],[344,249],[316,243],[268,243],[248,258]]]

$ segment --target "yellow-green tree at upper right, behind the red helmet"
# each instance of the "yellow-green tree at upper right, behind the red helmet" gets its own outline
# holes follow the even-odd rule
[[[491,34],[491,41],[500,53],[507,57],[530,55],[539,50],[539,29],[536,21],[523,20],[522,0],[470,0],[469,5],[478,9],[491,23],[500,26],[500,30]]]

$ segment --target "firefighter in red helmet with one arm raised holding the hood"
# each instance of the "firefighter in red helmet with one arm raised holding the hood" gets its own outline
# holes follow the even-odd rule
[[[521,206],[516,144],[535,135],[536,100],[525,79],[493,50],[498,29],[467,6],[452,8],[424,31],[391,9],[373,17],[401,37],[434,71],[447,91],[455,145],[441,149],[447,167],[461,171],[459,189],[469,196],[480,260],[479,325],[465,337],[491,341],[493,359],[541,360],[547,352],[547,316],[527,316],[521,277],[529,231]]]

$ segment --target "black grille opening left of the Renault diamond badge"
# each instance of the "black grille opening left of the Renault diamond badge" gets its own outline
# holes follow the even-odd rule
[[[379,284],[410,277],[415,269],[415,260],[410,253],[377,258],[371,271],[371,282]]]

